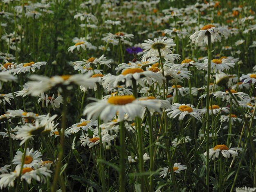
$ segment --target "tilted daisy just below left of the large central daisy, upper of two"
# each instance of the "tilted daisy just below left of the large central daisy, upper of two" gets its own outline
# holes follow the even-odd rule
[[[86,120],[81,118],[79,123],[75,123],[71,127],[67,129],[68,132],[70,133],[77,133],[78,131],[87,131],[88,129],[93,130],[92,126],[98,127],[98,121],[93,121],[93,120]]]

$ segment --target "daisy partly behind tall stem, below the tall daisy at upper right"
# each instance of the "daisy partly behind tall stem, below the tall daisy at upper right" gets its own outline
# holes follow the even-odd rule
[[[207,64],[208,60],[204,60],[204,63]],[[226,60],[220,60],[220,59],[213,59],[211,60],[211,69],[214,73],[218,71],[218,73],[229,70],[231,67],[233,68],[235,66],[235,63],[229,63]]]

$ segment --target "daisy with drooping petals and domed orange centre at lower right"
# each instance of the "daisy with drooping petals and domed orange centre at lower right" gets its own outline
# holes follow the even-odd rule
[[[214,160],[215,158],[218,158],[221,154],[225,157],[225,158],[229,158],[230,155],[232,157],[238,156],[238,153],[236,152],[236,150],[241,151],[242,148],[241,147],[234,147],[234,148],[230,148],[227,147],[226,145],[216,145],[213,149],[210,149],[209,151],[209,159]],[[207,152],[204,153],[204,156],[206,156]]]

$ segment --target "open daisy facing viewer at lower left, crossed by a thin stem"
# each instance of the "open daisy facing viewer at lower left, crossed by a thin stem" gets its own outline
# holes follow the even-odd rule
[[[13,164],[21,165],[22,156],[23,156],[23,152],[17,151],[12,161]],[[29,150],[29,148],[27,148],[23,167],[35,167],[37,163],[42,160],[40,156],[42,156],[40,152],[38,151],[34,152],[34,149]]]

